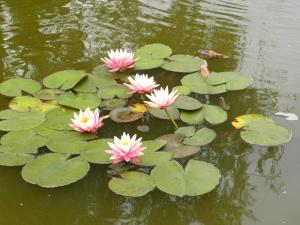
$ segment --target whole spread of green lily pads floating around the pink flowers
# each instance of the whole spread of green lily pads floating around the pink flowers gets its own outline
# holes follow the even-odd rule
[[[221,124],[227,120],[227,112],[202,104],[190,94],[242,90],[252,83],[252,78],[237,72],[212,72],[205,77],[200,72],[206,66],[205,60],[172,55],[170,47],[158,43],[138,48],[134,57],[133,63],[123,68],[115,67],[106,58],[106,65],[96,67],[92,73],[66,70],[47,76],[42,83],[24,78],[2,82],[0,93],[12,99],[9,109],[0,111],[0,130],[7,132],[0,140],[0,165],[23,166],[25,181],[47,188],[82,179],[90,163],[95,163],[113,168],[108,186],[124,196],[142,196],[155,187],[176,196],[196,196],[214,189],[221,175],[213,164],[190,159],[183,166],[177,159],[190,157],[211,143],[216,132],[202,122]],[[151,108],[143,100],[132,104],[134,94],[123,84],[128,83],[130,73],[154,68],[184,75],[182,85],[173,88],[180,96],[168,111]],[[150,123],[151,117],[156,117],[181,120],[187,126],[155,140],[142,141],[144,150],[139,160],[113,164],[107,153],[113,139],[101,138],[101,132],[98,136],[80,133],[70,126],[74,113],[86,108],[99,108],[124,126],[149,116]],[[276,146],[291,138],[289,130],[262,115],[243,115],[232,125],[241,129],[241,138],[250,144]]]

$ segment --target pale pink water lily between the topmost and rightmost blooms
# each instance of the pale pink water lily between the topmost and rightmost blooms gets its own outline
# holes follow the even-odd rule
[[[151,93],[154,88],[158,87],[153,77],[148,77],[146,74],[136,74],[134,77],[128,77],[129,84],[124,83],[131,90],[130,93]]]

